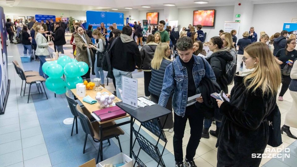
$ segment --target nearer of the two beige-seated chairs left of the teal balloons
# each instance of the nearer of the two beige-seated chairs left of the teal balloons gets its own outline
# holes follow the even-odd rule
[[[45,79],[44,79],[42,76],[31,76],[31,77],[26,77],[26,75],[24,74],[24,71],[23,71],[21,68],[17,67],[17,69],[18,69],[18,71],[19,71],[19,75],[20,75],[21,79],[22,79],[23,81],[25,81],[24,96],[25,96],[25,91],[26,91],[26,83],[27,83],[27,84],[30,84],[30,87],[29,87],[29,95],[28,95],[28,103],[29,103],[29,97],[30,97],[30,91],[31,91],[31,85],[32,85],[32,84],[36,83],[37,88],[38,88],[38,85],[39,85],[40,90],[41,90],[41,93],[43,93],[43,92],[42,92],[42,89],[41,89],[41,86],[40,86],[40,83],[41,83],[41,84],[42,84],[42,87],[43,87],[43,90],[44,90],[44,92],[45,92],[45,89],[44,89],[44,86],[43,86],[43,82],[45,81]],[[38,89],[38,92],[39,92],[39,89]],[[39,92],[39,93],[40,93],[40,92]],[[47,98],[47,95],[46,95],[46,92],[45,92],[45,96],[46,96],[46,99],[48,99],[48,98]]]

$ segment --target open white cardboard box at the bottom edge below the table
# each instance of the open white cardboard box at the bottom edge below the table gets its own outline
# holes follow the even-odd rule
[[[115,164],[121,164],[121,163],[126,163],[121,167],[133,167],[133,160],[122,152],[119,153],[118,155],[108,158],[107,160],[99,162],[99,167],[103,167],[106,164],[115,165]]]

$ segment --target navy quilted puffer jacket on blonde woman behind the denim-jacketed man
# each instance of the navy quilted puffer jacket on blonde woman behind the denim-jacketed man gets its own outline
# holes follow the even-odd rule
[[[149,83],[149,92],[152,93],[153,95],[156,95],[156,96],[161,95],[165,70],[170,63],[171,61],[163,58],[159,70],[152,68],[152,78],[151,78],[151,82]]]

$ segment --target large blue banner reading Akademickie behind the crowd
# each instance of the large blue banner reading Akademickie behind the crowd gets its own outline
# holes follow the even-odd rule
[[[104,12],[104,11],[87,11],[87,25],[92,24],[93,30],[100,26],[103,22],[107,29],[107,37],[109,37],[109,26],[113,23],[117,24],[117,28],[122,30],[124,27],[124,14],[118,12]]]

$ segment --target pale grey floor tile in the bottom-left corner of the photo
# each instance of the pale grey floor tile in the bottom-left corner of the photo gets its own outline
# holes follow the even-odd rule
[[[13,158],[11,158],[11,157],[13,157]],[[0,155],[0,167],[12,165],[12,164],[22,162],[22,161],[23,161],[22,150],[18,150],[18,151]]]

